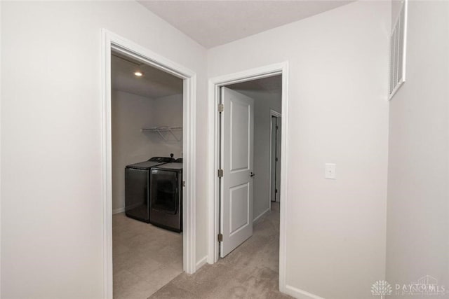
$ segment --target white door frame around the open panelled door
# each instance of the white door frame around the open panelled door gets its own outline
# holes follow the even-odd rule
[[[220,181],[217,176],[219,166],[220,117],[218,104],[220,103],[220,87],[234,83],[252,81],[260,78],[282,75],[282,115],[281,118],[281,211],[279,235],[279,289],[286,291],[286,228],[287,228],[287,157],[288,157],[288,62],[270,64],[264,67],[248,69],[234,74],[210,78],[208,82],[208,263],[218,260],[219,244],[219,192]],[[225,107],[226,109],[226,107]]]

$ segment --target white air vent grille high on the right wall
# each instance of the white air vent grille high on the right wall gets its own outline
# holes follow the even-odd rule
[[[389,99],[406,81],[407,1],[403,2],[390,37]]]

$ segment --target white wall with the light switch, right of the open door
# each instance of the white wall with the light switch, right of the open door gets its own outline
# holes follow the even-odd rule
[[[294,295],[372,298],[371,284],[384,279],[390,8],[357,1],[208,51],[209,77],[289,62]],[[335,181],[324,179],[326,162],[337,164]]]

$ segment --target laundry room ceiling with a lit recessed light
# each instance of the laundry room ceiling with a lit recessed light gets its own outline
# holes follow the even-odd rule
[[[112,89],[156,99],[182,93],[182,79],[114,53],[111,57]],[[141,71],[142,77],[135,76]]]

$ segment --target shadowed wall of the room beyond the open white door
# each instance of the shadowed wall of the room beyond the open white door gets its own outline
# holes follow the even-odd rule
[[[269,209],[269,150],[272,116],[281,111],[281,94],[263,90],[236,90],[254,99],[254,200],[253,219]]]

